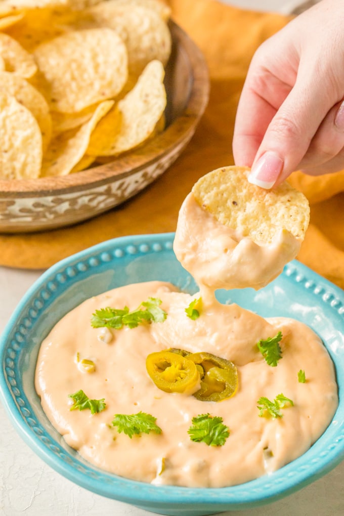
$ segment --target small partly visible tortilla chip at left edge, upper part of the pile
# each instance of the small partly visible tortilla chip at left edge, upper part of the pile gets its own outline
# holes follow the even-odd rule
[[[4,60],[8,72],[24,78],[30,78],[37,72],[34,56],[8,34],[0,33],[0,57]]]

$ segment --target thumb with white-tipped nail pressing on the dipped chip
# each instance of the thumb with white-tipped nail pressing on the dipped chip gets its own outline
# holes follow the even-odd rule
[[[261,141],[249,176],[251,183],[271,188],[297,170],[319,125],[333,105],[324,91],[326,86],[319,77],[317,80],[310,77],[304,80],[298,76]]]

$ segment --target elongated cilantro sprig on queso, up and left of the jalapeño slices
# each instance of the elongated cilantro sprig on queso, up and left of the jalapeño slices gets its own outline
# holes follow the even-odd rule
[[[161,302],[160,299],[149,297],[147,301],[143,301],[140,306],[132,312],[129,312],[128,307],[124,307],[123,309],[107,307],[96,310],[95,313],[92,314],[91,326],[93,328],[107,327],[120,330],[123,326],[136,328],[143,321],[162,322],[166,319],[167,313],[159,307]],[[141,307],[143,307],[144,310]]]

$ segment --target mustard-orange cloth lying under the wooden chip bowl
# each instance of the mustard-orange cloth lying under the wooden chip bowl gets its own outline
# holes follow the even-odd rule
[[[235,112],[245,74],[261,42],[288,21],[216,0],[171,0],[172,16],[199,45],[208,63],[208,107],[181,157],[135,198],[71,228],[0,235],[0,264],[45,268],[109,238],[174,231],[179,207],[201,175],[233,164]],[[311,223],[299,259],[344,288],[344,171],[311,178],[296,172],[291,183],[311,204]]]

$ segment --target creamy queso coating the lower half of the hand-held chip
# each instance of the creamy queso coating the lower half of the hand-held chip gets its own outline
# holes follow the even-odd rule
[[[301,241],[278,231],[271,244],[259,245],[217,222],[192,193],[179,211],[174,252],[201,287],[255,289],[266,286],[298,254]]]

